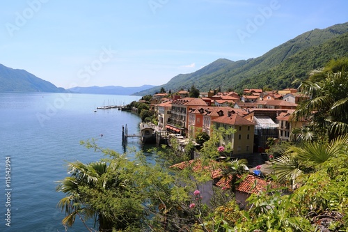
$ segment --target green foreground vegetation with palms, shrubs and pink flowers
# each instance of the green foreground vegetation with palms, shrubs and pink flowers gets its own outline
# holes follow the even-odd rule
[[[212,186],[211,199],[205,199],[202,186],[212,171],[244,175],[244,162],[211,162],[221,151],[217,147],[223,131],[205,141],[195,161],[209,171],[193,169],[189,162],[187,169],[171,168],[188,161],[189,154],[176,149],[159,151],[152,165],[141,152],[131,161],[126,154],[87,141],[84,146],[104,157],[90,164],[68,164],[70,176],[57,187],[66,194],[58,203],[66,213],[63,224],[93,219],[94,229],[86,226],[86,231],[348,231],[347,66],[320,71],[322,77],[310,79],[312,98],[295,114],[308,118],[308,130],[301,130],[301,139],[271,160],[271,184],[249,196],[250,208],[239,207],[232,187]],[[238,183],[236,179],[232,185]]]

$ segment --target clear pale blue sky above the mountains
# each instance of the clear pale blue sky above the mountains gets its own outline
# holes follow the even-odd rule
[[[160,85],[348,22],[348,1],[3,1],[0,63],[56,86]]]

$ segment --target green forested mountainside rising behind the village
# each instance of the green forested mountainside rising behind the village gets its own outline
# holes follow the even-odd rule
[[[177,75],[166,84],[135,95],[153,94],[162,87],[173,92],[192,84],[200,91],[294,88],[295,79],[307,79],[312,70],[342,56],[348,56],[348,22],[308,31],[255,59],[218,59],[196,72]]]

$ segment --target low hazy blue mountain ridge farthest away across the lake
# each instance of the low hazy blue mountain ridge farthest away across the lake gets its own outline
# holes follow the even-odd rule
[[[68,88],[68,91],[74,93],[93,93],[93,94],[116,94],[116,95],[132,95],[133,93],[144,91],[155,86],[143,85],[139,87],[122,87],[122,86],[91,86],[91,87],[74,87]]]

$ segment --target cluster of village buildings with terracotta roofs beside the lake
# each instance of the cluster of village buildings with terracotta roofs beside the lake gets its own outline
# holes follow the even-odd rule
[[[306,99],[295,88],[282,91],[244,89],[242,95],[234,91],[209,91],[190,98],[189,91],[175,94],[156,93],[150,110],[154,113],[155,130],[180,134],[195,139],[198,132],[209,136],[213,128],[237,130],[223,137],[220,146],[230,144],[233,155],[263,153],[267,139],[291,141],[291,131],[303,122],[292,122],[290,116],[297,104]]]

